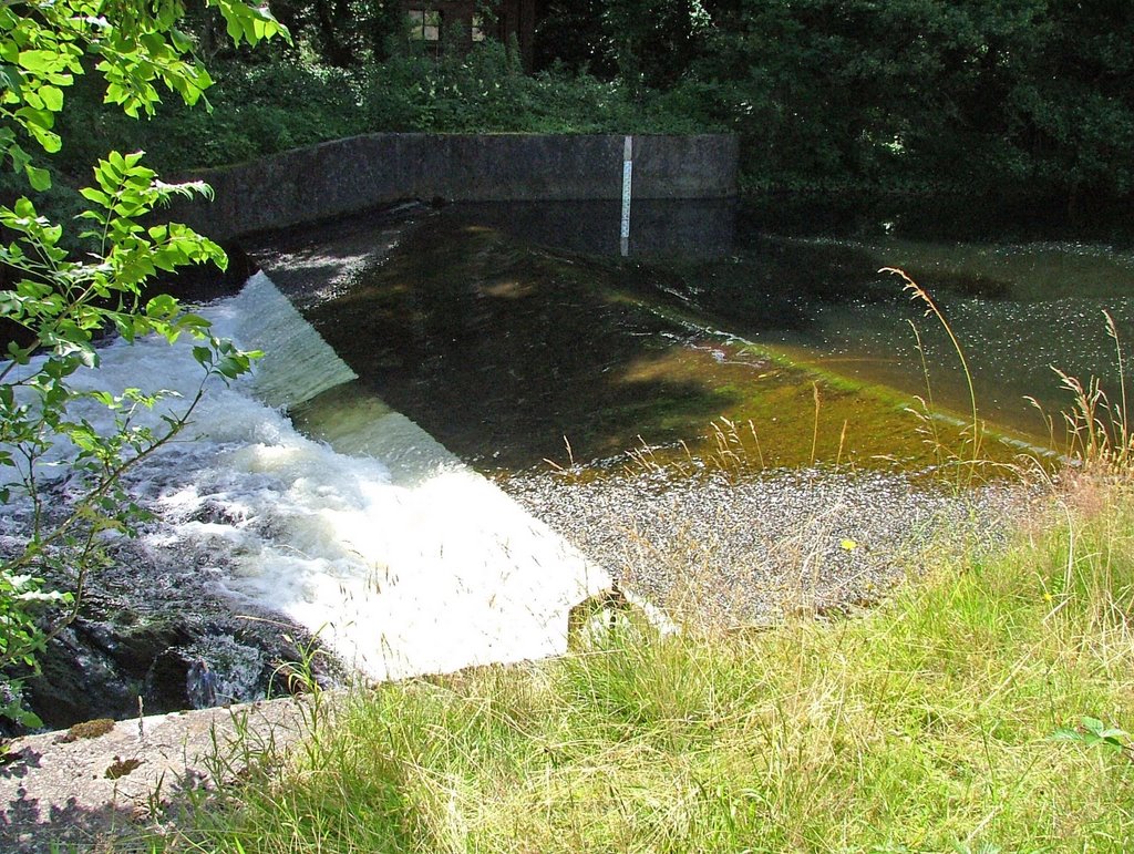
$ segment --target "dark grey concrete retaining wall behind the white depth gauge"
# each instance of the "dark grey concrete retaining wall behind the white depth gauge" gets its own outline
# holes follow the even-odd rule
[[[219,240],[387,205],[618,200],[626,137],[618,134],[367,134],[189,176],[211,203],[170,218]],[[718,134],[633,137],[635,200],[736,194],[737,138]]]

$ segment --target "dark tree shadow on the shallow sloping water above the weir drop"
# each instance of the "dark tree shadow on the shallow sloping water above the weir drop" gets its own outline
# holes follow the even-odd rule
[[[565,434],[587,456],[642,430],[672,440],[735,403],[727,388],[651,372],[687,333],[606,278],[438,218],[308,318],[383,400],[489,466],[560,458]]]

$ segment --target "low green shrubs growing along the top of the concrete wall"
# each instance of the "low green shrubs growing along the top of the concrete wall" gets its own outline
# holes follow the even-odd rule
[[[683,133],[711,124],[675,110],[670,96],[634,101],[617,82],[553,67],[527,75],[498,43],[441,59],[404,54],[341,69],[229,61],[212,69],[212,112],[159,109],[134,121],[100,110],[94,87],[66,117],[76,144],[62,171],[87,162],[84,144],[144,149],[163,172],[223,166],[372,132]],[[96,134],[91,134],[92,126]],[[83,141],[87,141],[84,143]],[[84,177],[85,176],[79,176]]]

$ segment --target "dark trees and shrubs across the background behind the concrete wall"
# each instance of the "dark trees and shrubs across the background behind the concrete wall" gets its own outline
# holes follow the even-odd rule
[[[482,6],[491,15],[494,2]],[[975,191],[1073,206],[1134,191],[1124,0],[539,6],[525,75],[508,45],[415,49],[395,0],[274,0],[294,43],[210,49],[212,116],[159,111],[139,128],[88,99],[65,120],[95,122],[120,145],[136,138],[174,168],[371,130],[726,129],[742,137],[748,188]],[[195,14],[197,43],[218,44]]]

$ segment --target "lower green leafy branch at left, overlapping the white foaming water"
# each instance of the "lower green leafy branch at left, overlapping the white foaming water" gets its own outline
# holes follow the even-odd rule
[[[235,379],[251,369],[256,353],[209,332],[209,322],[181,310],[176,299],[155,296],[141,305],[142,287],[158,270],[211,261],[223,268],[223,252],[178,223],[144,227],[139,219],[171,194],[205,192],[200,185],[169,185],[141,164],[141,154],[112,152],[94,170],[95,187],[83,191],[92,208],[81,219],[94,222],[100,255],[75,261],[59,248],[62,229],[41,217],[28,198],[0,209],[0,222],[15,235],[0,246],[0,262],[24,274],[0,291],[0,316],[22,327],[29,340],[8,345],[10,361],[0,369],[0,502],[29,500],[32,523],[22,550],[0,560],[0,669],[31,667],[34,657],[78,615],[90,572],[107,563],[103,535],[133,533],[144,517],[122,490],[125,474],[156,453],[188,423],[213,377]],[[95,336],[115,329],[128,341],[159,335],[170,344],[181,335],[201,341],[193,357],[203,369],[194,397],[177,414],[163,415],[162,428],[135,423],[170,392],[146,395],[127,389],[76,391],[69,379],[81,367],[95,367]],[[39,355],[36,355],[39,354]],[[32,364],[33,355],[36,363]],[[19,366],[27,370],[19,372]],[[71,414],[87,400],[115,413],[103,431]],[[81,493],[65,517],[46,517],[39,464],[61,442],[69,443],[69,485]],[[71,577],[73,592],[45,590],[46,576]],[[45,618],[49,606],[65,606]],[[2,713],[2,710],[0,710]]]

